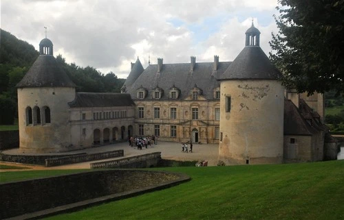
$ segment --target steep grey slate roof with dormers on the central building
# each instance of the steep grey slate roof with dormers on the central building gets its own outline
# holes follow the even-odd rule
[[[196,62],[193,71],[190,71],[190,63],[163,64],[158,73],[158,64],[151,64],[144,69],[138,79],[131,86],[127,86],[127,93],[132,99],[137,99],[136,91],[141,86],[146,88],[147,99],[152,99],[153,89],[162,88],[162,100],[169,99],[169,90],[173,87],[180,89],[178,99],[185,99],[191,94],[191,90],[197,85],[206,99],[213,99],[213,89],[219,87],[217,78],[224,73],[231,62],[219,62],[217,71],[213,71],[213,62]],[[160,99],[160,100],[161,100]],[[144,99],[143,99],[144,100]]]

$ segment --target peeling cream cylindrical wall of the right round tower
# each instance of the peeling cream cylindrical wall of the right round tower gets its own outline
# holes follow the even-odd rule
[[[226,97],[230,97],[230,112],[226,112]],[[282,162],[284,95],[280,82],[222,81],[220,105],[220,160],[226,164]]]

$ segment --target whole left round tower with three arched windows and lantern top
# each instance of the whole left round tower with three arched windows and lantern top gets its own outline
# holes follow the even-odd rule
[[[58,66],[52,41],[39,44],[39,57],[17,84],[19,149],[24,153],[67,151],[71,145],[68,102],[75,84]]]

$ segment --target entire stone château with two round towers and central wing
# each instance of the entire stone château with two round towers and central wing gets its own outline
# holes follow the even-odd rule
[[[259,35],[252,25],[233,62],[192,56],[190,63],[164,64],[158,58],[144,69],[137,59],[121,93],[76,93],[45,38],[17,85],[20,150],[69,151],[154,135],[219,143],[226,164],[335,159],[336,142],[322,122],[323,96],[284,90]]]

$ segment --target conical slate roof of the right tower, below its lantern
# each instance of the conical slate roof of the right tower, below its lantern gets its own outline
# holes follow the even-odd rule
[[[281,72],[258,46],[246,46],[219,80],[277,80]]]

